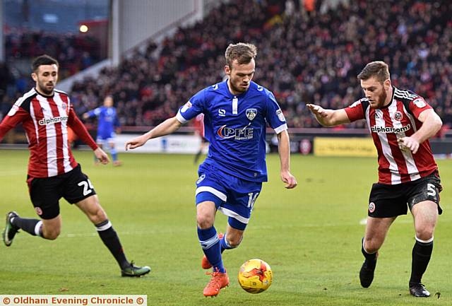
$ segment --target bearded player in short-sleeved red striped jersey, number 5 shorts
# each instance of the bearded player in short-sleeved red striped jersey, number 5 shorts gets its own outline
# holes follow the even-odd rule
[[[410,90],[391,85],[388,65],[372,61],[359,73],[364,90],[362,98],[340,110],[325,110],[308,104],[323,126],[335,126],[366,119],[378,153],[379,182],[373,184],[362,254],[364,263],[359,280],[364,288],[371,285],[378,250],[397,216],[408,208],[415,223],[415,245],[409,281],[410,294],[428,297],[421,278],[433,250],[434,229],[438,215],[441,181],[429,138],[441,129],[438,114],[425,100]]]

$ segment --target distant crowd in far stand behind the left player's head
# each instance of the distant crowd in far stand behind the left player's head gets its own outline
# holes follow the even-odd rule
[[[27,28],[4,28],[6,61],[0,62],[0,119],[34,84],[30,61],[49,54],[59,61],[60,81],[102,60],[100,42],[90,35],[47,33]]]

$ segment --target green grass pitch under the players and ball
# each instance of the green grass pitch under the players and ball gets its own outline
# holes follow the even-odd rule
[[[438,160],[444,214],[423,278],[431,298],[408,293],[415,235],[410,214],[400,216],[389,231],[374,283],[359,286],[364,233],[359,222],[367,216],[369,190],[376,181],[375,158],[292,155],[299,186],[286,190],[278,155],[268,155],[269,182],[242,245],[223,256],[230,286],[210,299],[202,294],[209,278],[200,266],[196,236],[193,156],[122,153],[124,165],[112,167],[93,165],[92,153],[74,154],[129,260],[153,271],[143,278],[121,278],[93,225],[62,200],[57,240],[19,233],[11,247],[0,245],[0,294],[142,294],[148,305],[452,305],[451,160]],[[0,151],[1,216],[15,210],[36,217],[25,184],[27,162],[27,151]],[[216,228],[225,230],[226,222],[218,213]],[[251,295],[239,287],[237,272],[255,257],[270,264],[274,279],[266,292]]]

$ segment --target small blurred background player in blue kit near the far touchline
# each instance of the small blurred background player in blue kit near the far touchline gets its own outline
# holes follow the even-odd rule
[[[104,99],[104,105],[97,107],[94,110],[85,112],[83,119],[97,117],[97,145],[100,148],[109,148],[112,155],[112,161],[114,166],[121,165],[121,161],[118,160],[118,153],[114,146],[115,131],[119,129],[119,120],[117,117],[116,108],[113,107],[113,97],[107,95]]]

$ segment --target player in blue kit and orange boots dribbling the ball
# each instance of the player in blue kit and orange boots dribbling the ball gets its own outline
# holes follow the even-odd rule
[[[138,148],[204,114],[210,147],[198,169],[196,222],[205,254],[202,266],[206,269],[213,266],[212,278],[203,290],[205,296],[216,296],[229,285],[222,251],[242,242],[262,182],[267,181],[267,124],[278,134],[281,180],[287,189],[297,186],[290,173],[289,134],[283,112],[273,93],[251,81],[256,54],[254,45],[242,42],[229,45],[225,52],[226,81],[199,91],[176,116],[126,142],[126,150]],[[218,235],[213,226],[217,210],[229,217],[225,235]]]

